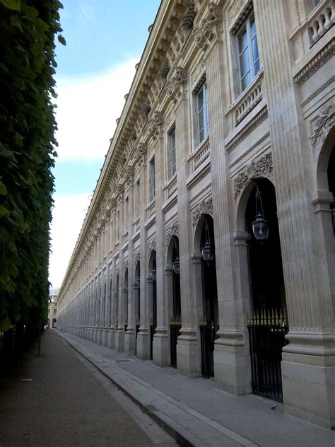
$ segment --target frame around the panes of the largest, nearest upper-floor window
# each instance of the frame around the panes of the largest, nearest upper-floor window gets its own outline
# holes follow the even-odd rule
[[[252,26],[251,24],[254,23],[255,27],[255,33],[252,35]],[[240,36],[246,34],[247,36],[247,46],[240,49]],[[256,39],[256,45],[257,45],[257,57],[254,59],[254,52],[252,47],[252,41]],[[261,69],[260,64],[260,58],[259,58],[259,46],[258,46],[258,38],[257,38],[257,28],[256,28],[256,19],[254,16],[254,10],[252,9],[245,20],[241,23],[241,25],[237,28],[235,32],[235,47],[236,47],[236,56],[237,56],[237,72],[238,72],[238,84],[240,93],[245,91],[249,85],[252,83],[252,81],[257,77],[257,74],[259,74],[259,71]],[[247,52],[247,63],[248,63],[248,69],[245,71],[244,74],[242,74],[242,64],[241,64],[241,56]],[[258,66],[258,69],[255,69],[255,66]],[[244,79],[249,74],[249,82],[243,86]]]

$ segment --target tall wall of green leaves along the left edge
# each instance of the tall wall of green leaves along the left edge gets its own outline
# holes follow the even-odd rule
[[[58,0],[0,0],[0,332],[47,318],[61,7]]]

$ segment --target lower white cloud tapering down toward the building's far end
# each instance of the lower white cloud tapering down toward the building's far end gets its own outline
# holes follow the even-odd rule
[[[51,225],[52,253],[49,260],[49,281],[53,288],[61,286],[64,279],[90,198],[88,194],[54,196]]]

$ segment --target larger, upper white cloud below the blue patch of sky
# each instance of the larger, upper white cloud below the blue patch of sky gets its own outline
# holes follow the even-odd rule
[[[129,59],[93,76],[57,78],[56,133],[59,160],[103,158],[135,75]]]

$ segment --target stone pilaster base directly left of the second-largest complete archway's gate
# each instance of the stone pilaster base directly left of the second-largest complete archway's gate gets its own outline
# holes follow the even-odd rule
[[[187,377],[201,376],[201,351],[195,337],[177,339],[177,370]]]

